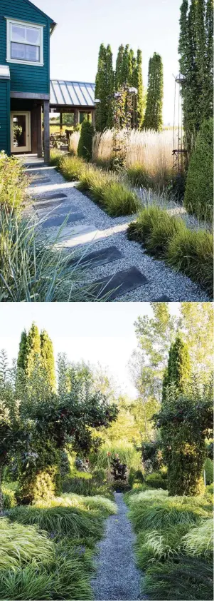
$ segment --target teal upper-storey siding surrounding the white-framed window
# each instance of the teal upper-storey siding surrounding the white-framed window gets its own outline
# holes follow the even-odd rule
[[[44,66],[16,64],[6,61],[6,18],[44,25]],[[11,73],[11,91],[50,94],[50,24],[51,19],[26,0],[0,1],[0,64]]]

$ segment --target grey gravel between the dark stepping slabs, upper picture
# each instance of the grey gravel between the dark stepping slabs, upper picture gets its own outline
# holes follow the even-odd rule
[[[85,215],[85,221],[78,221],[78,224],[94,224],[96,228],[102,231],[104,239],[90,243],[88,245],[88,251],[98,251],[100,248],[106,248],[112,244],[122,251],[124,258],[119,261],[108,263],[104,266],[90,268],[85,271],[84,280],[85,282],[93,282],[103,276],[109,276],[109,279],[117,271],[122,269],[128,269],[132,266],[139,268],[139,271],[146,276],[149,283],[145,286],[141,286],[136,290],[124,294],[124,296],[118,296],[114,302],[133,302],[133,301],[154,301],[162,295],[168,296],[171,301],[178,302],[181,300],[192,301],[192,302],[208,302],[210,298],[200,287],[193,283],[189,278],[183,276],[182,273],[177,273],[173,269],[166,266],[164,261],[157,261],[155,258],[146,255],[141,245],[134,241],[129,241],[126,236],[127,226],[130,222],[134,221],[137,216],[122,216],[117,218],[109,217],[99,206],[93,203],[90,198],[82,194],[75,188],[75,183],[66,182],[63,176],[53,168],[36,169],[41,171],[41,175],[50,178],[51,183],[47,185],[39,184],[38,186],[31,186],[29,193],[34,198],[46,198],[47,194],[55,191],[66,193],[68,200],[65,199],[65,214],[72,212],[82,212]],[[31,175],[33,171],[29,172]],[[62,212],[62,205],[59,208],[60,213]],[[30,211],[31,213],[31,211]],[[47,214],[50,214],[50,210],[42,211],[40,218],[44,218]],[[57,209],[52,212],[53,215],[57,215]],[[57,234],[57,228],[51,228],[51,231],[55,231]],[[70,226],[72,232],[72,226]],[[48,228],[50,232],[50,228]],[[81,248],[79,248],[81,253]],[[82,248],[86,251],[86,248]]]

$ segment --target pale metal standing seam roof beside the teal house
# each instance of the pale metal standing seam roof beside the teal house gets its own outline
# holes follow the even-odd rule
[[[95,84],[50,79],[50,105],[95,106]]]

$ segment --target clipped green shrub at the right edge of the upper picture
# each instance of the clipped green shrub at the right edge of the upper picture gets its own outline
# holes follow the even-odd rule
[[[213,218],[213,118],[200,127],[188,168],[184,205],[198,218]]]

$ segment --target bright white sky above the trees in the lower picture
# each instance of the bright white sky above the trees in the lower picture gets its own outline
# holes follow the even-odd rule
[[[179,303],[170,303],[170,310],[178,313]],[[134,322],[139,315],[152,317],[150,303],[1,303],[0,349],[11,363],[22,330],[35,321],[53,340],[55,359],[64,352],[71,361],[100,363],[119,391],[134,398],[128,363],[137,348]]]

